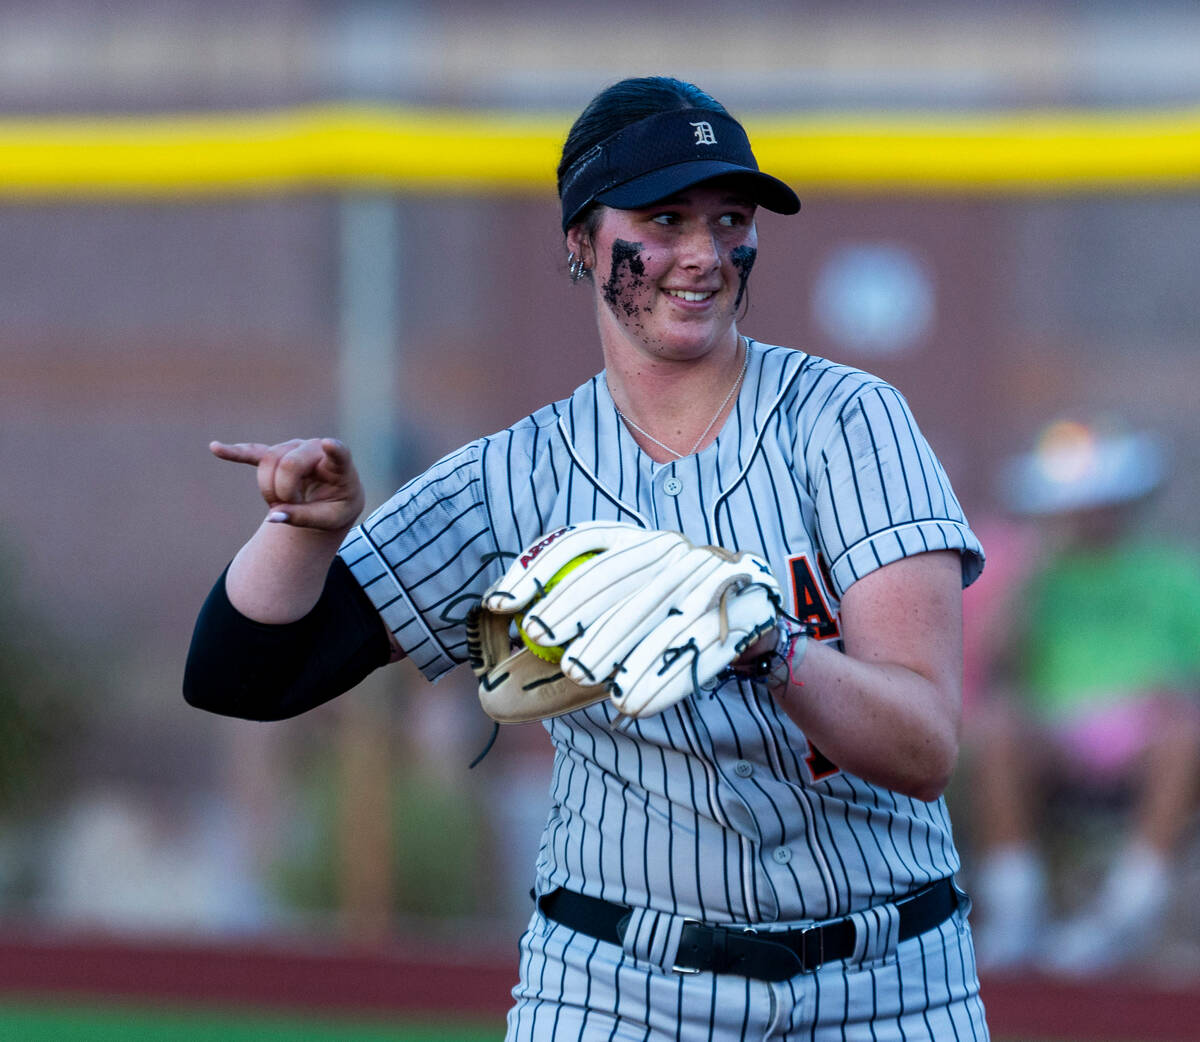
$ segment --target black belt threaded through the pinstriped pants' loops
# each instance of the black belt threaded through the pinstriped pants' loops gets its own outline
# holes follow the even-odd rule
[[[946,922],[959,898],[949,879],[895,902],[900,914],[899,940],[906,941]],[[542,915],[596,940],[619,945],[631,909],[569,890],[554,890],[538,899]],[[685,920],[673,970],[680,974],[738,974],[756,981],[786,981],[815,970],[822,963],[854,953],[853,920],[779,933],[757,933],[754,927],[706,926]]]

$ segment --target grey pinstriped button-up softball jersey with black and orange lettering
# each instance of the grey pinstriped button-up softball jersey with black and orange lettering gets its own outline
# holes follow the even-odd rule
[[[446,456],[341,549],[431,679],[466,659],[467,609],[538,535],[589,519],[758,553],[792,611],[838,641],[857,579],[926,550],[983,567],[946,474],[900,394],[845,365],[748,341],[718,439],[670,463],[625,430],[604,375]],[[607,702],[547,721],[556,759],[539,893],[556,886],[706,922],[846,915],[953,875],[944,803],[828,763],[766,687],[614,732]]]

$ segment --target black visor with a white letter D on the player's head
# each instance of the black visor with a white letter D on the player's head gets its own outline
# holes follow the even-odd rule
[[[640,209],[713,178],[733,179],[750,202],[776,214],[800,209],[796,192],[758,169],[742,124],[685,108],[622,127],[571,164],[563,178],[563,232],[592,203]]]

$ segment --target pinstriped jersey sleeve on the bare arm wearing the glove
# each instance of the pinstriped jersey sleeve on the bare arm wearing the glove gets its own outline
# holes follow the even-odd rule
[[[946,472],[895,388],[850,399],[810,457],[817,534],[839,597],[869,571],[930,550],[962,555],[962,585],[983,569]]]

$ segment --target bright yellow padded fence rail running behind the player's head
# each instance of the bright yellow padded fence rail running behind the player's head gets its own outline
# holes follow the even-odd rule
[[[1200,186],[1200,107],[748,116],[809,192],[1061,193]],[[384,106],[0,119],[0,200],[287,191],[553,191],[569,115]]]

